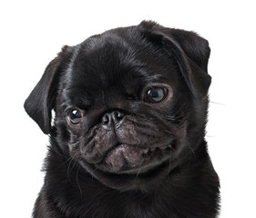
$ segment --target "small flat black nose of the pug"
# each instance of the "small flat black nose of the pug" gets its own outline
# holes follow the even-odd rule
[[[125,114],[119,111],[113,111],[111,113],[104,114],[102,117],[102,124],[106,128],[111,128],[114,126],[118,127],[122,123]]]

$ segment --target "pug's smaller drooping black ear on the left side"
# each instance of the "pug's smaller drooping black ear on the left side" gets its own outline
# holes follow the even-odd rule
[[[51,111],[55,106],[56,86],[58,84],[61,63],[69,46],[64,46],[62,51],[47,66],[40,81],[36,84],[24,104],[26,113],[36,121],[44,134],[51,130]]]

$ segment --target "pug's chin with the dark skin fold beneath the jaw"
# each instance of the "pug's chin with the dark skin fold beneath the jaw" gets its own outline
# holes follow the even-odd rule
[[[79,163],[110,188],[150,192],[168,177],[173,146],[172,143],[148,149],[118,144],[100,163],[87,163],[84,158]]]

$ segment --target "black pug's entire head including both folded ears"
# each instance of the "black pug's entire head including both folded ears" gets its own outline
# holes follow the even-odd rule
[[[26,112],[99,182],[152,189],[204,136],[209,54],[200,36],[152,22],[94,35],[47,66]]]

